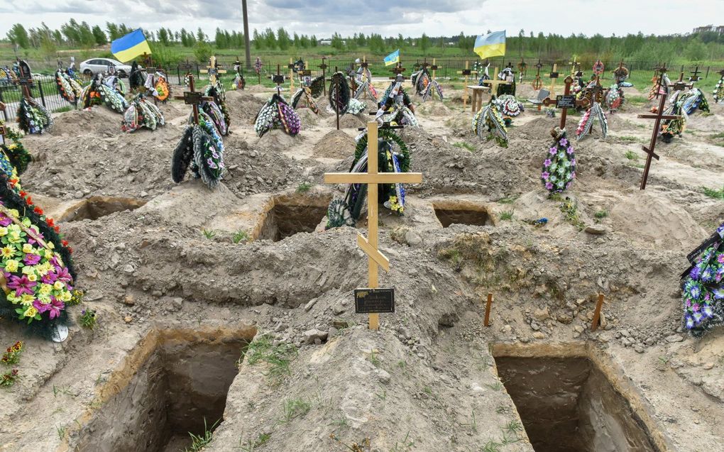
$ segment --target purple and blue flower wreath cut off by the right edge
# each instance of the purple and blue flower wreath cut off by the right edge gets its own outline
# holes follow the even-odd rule
[[[683,325],[702,336],[724,325],[724,223],[688,258],[692,265],[681,281]]]

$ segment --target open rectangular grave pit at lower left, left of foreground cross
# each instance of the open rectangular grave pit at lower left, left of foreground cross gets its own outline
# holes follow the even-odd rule
[[[237,362],[256,334],[153,331],[101,389],[77,452],[176,452],[219,425]]]

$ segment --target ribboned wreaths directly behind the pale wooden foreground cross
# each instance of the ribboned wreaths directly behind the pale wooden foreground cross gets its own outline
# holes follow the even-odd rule
[[[378,171],[381,173],[406,173],[410,169],[410,152],[405,142],[392,129],[379,129]],[[350,167],[352,173],[367,171],[367,133],[357,137],[355,159]],[[367,193],[366,184],[349,184],[345,195],[332,200],[327,209],[326,229],[340,226],[354,226],[361,216]],[[403,215],[405,210],[405,187],[403,184],[382,184],[379,188],[379,202],[385,208]]]

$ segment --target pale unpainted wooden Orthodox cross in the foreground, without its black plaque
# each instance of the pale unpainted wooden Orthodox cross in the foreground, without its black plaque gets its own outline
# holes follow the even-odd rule
[[[357,244],[368,256],[368,285],[369,289],[378,286],[377,270],[382,267],[390,271],[390,260],[378,250],[377,236],[377,208],[379,199],[377,190],[379,184],[419,184],[422,182],[421,173],[382,173],[378,171],[377,151],[377,123],[367,123],[367,172],[366,173],[326,173],[325,184],[367,184],[367,229],[369,239],[358,233]],[[379,313],[370,313],[369,329],[379,330]]]

